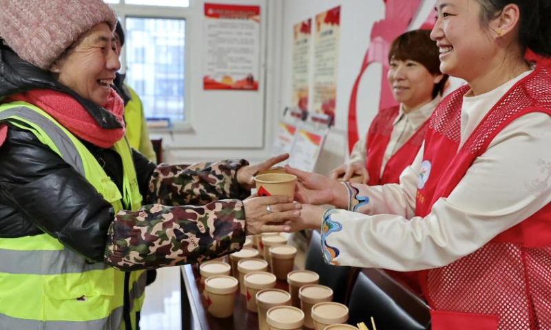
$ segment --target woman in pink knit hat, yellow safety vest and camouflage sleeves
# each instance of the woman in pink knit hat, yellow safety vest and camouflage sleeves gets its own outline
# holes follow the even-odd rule
[[[157,166],[129,148],[116,16],[101,0],[0,0],[0,329],[137,329],[143,270],[289,230],[249,166]]]

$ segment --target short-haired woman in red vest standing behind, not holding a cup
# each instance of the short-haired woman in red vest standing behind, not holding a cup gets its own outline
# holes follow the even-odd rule
[[[448,80],[440,72],[438,56],[429,30],[406,32],[394,39],[388,52],[388,83],[400,104],[377,113],[366,139],[354,145],[349,162],[331,172],[333,179],[343,176],[343,181],[349,181],[357,176],[370,186],[399,181],[421,148],[428,118]]]

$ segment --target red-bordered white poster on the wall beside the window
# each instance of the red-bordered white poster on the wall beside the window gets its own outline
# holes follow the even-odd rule
[[[205,3],[203,89],[258,90],[260,6]]]

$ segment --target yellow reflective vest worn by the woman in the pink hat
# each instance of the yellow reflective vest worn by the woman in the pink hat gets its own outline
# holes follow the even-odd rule
[[[87,148],[48,113],[26,102],[0,105],[0,122],[10,122],[38,137],[109,201],[115,212],[138,210],[132,151],[127,140],[114,144],[123,161],[123,192]],[[107,234],[107,233],[106,233]],[[87,263],[49,234],[0,238],[0,329],[125,329],[125,272],[105,263]],[[132,329],[143,304],[145,272],[129,275]]]

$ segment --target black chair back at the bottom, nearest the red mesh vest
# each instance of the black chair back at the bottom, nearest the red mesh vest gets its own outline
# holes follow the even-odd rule
[[[373,317],[377,329],[430,329],[430,314],[424,301],[382,270],[360,272],[352,289],[349,312],[351,325],[371,325]]]

